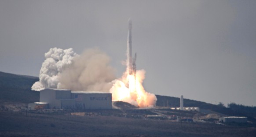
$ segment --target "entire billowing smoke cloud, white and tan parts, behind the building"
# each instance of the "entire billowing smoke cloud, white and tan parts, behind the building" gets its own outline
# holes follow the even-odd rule
[[[45,58],[40,70],[40,81],[33,84],[32,90],[64,88],[109,92],[112,87],[110,82],[115,79],[109,56],[99,49],[88,49],[77,55],[71,48],[52,48],[45,53]]]

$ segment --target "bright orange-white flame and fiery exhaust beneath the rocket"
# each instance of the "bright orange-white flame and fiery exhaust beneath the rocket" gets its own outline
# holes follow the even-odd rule
[[[128,71],[127,71],[128,72]],[[113,101],[124,101],[139,107],[153,107],[157,98],[143,88],[145,70],[138,70],[136,77],[127,72],[119,80],[115,80],[110,89]]]

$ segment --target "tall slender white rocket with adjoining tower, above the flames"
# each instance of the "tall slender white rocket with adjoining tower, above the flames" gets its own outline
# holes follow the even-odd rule
[[[128,37],[127,37],[127,68],[130,75],[136,75],[136,53],[132,58],[132,20],[128,20]]]

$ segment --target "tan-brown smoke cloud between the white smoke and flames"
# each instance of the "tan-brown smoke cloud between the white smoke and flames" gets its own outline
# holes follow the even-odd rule
[[[99,49],[88,49],[73,58],[59,74],[59,87],[73,91],[105,91],[112,87],[114,69],[110,57]]]

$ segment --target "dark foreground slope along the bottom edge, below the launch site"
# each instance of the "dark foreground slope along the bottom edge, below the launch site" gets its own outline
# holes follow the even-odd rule
[[[255,137],[256,127],[171,122],[102,115],[70,115],[26,111],[0,113],[4,137]],[[103,114],[104,113],[104,114]],[[105,116],[104,116],[105,115]]]

